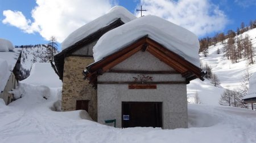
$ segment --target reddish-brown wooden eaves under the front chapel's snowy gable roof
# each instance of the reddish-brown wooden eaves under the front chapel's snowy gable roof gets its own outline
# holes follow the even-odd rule
[[[189,81],[197,78],[202,81],[204,80],[204,72],[201,70],[201,68],[196,67],[194,64],[188,62],[180,55],[168,50],[166,47],[160,45],[158,42],[148,38],[147,36],[144,36],[135,41],[133,44],[126,46],[121,50],[99,60],[98,62],[87,66],[86,70],[83,72],[85,79],[88,79],[90,84],[97,87],[98,75],[108,72],[115,65],[123,62],[123,60],[131,57],[131,55],[140,50],[148,51],[156,58],[166,63],[168,66],[174,68],[174,70],[176,70],[178,73],[181,73],[181,75],[185,77],[187,84]]]

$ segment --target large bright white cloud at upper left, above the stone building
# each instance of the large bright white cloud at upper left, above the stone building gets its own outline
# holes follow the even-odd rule
[[[114,5],[114,0],[36,0],[31,11],[32,20],[26,19],[20,11],[3,11],[2,22],[27,33],[39,32],[48,40],[55,36],[62,42],[77,28],[105,14]]]

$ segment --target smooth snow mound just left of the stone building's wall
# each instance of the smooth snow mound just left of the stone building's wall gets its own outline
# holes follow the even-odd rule
[[[20,81],[31,85],[45,85],[49,88],[62,86],[62,82],[51,67],[51,63],[34,63],[32,64],[30,76]]]

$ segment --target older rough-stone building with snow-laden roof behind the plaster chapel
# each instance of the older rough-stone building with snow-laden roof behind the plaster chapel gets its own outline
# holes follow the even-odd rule
[[[97,120],[97,91],[88,81],[82,80],[82,71],[94,62],[93,46],[111,29],[136,17],[126,8],[113,7],[108,14],[97,18],[71,33],[61,44],[62,51],[54,56],[56,70],[63,81],[63,111],[86,110]]]

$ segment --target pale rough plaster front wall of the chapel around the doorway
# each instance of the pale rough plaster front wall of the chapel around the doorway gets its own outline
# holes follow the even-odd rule
[[[117,64],[112,70],[174,71],[147,51],[132,55]],[[162,123],[164,129],[187,128],[187,86],[179,73],[143,74],[151,76],[153,82],[184,81],[179,84],[157,84],[156,89],[129,89],[129,84],[104,84],[109,81],[134,81],[140,73],[110,73],[98,76],[98,122],[117,119],[117,127],[122,127],[122,102],[162,102]]]

